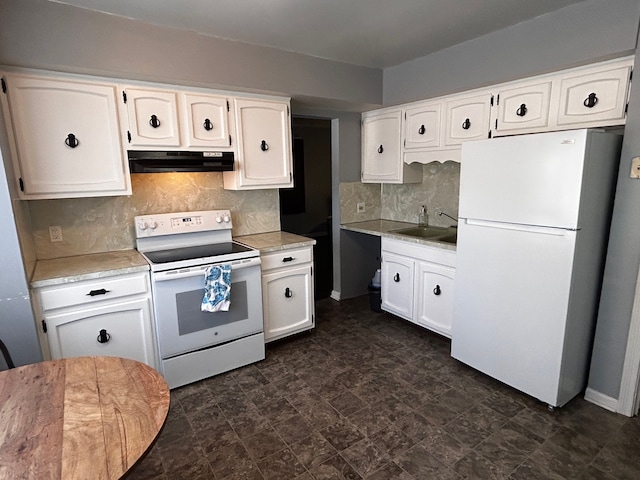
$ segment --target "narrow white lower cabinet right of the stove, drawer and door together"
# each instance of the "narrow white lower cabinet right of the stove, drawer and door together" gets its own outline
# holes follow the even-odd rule
[[[266,342],[315,326],[313,247],[262,255],[262,301]]]

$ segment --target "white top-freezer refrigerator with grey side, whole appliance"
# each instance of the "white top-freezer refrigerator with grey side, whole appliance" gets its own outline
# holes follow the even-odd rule
[[[621,136],[462,146],[454,358],[562,406],[586,383]]]

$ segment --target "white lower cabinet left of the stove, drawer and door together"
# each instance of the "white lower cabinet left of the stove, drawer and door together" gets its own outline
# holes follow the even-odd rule
[[[51,358],[106,355],[157,368],[147,272],[35,290]]]

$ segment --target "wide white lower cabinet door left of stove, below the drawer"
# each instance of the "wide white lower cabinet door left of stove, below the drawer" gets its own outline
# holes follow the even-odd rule
[[[45,313],[45,321],[53,359],[108,355],[157,368],[148,298]]]

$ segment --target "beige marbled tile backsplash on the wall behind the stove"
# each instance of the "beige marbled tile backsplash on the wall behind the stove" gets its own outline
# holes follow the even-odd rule
[[[133,194],[29,201],[38,259],[135,248],[133,217],[153,213],[231,210],[233,235],[280,230],[278,190],[224,190],[222,174],[131,175]],[[62,227],[63,241],[49,241],[49,226]]]

